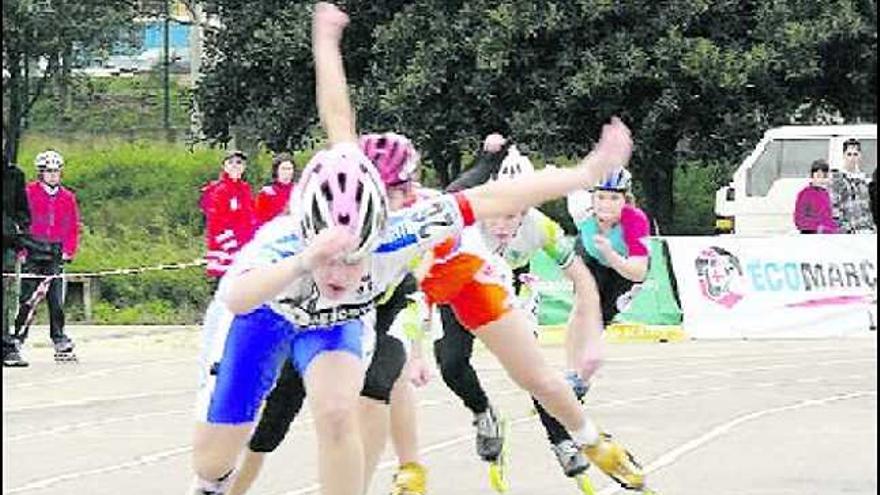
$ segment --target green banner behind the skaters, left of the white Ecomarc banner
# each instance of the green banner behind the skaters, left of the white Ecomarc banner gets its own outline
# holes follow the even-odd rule
[[[615,321],[645,325],[678,325],[681,309],[672,292],[669,264],[660,239],[650,240],[651,264],[648,277],[640,284],[632,303]],[[531,272],[540,278],[538,323],[561,325],[568,321],[573,289],[571,282],[549,256],[539,251],[531,260]]]

